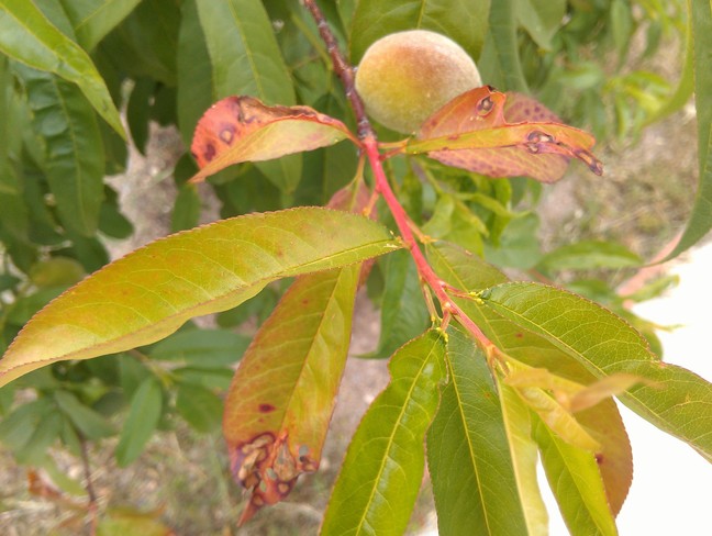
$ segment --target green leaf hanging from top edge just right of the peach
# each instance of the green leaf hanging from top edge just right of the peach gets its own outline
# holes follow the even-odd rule
[[[516,41],[515,2],[516,0],[498,0],[492,3],[489,31],[477,65],[482,80],[487,80],[488,83],[527,93]]]

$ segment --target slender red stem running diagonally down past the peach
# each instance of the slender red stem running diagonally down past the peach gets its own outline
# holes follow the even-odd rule
[[[482,333],[482,331],[475,324],[475,322],[465,314],[465,312],[450,299],[445,289],[450,288],[445,281],[443,281],[437,273],[431,268],[421,252],[418,241],[413,235],[411,230],[411,221],[408,216],[405,210],[398,201],[396,193],[388,182],[386,172],[383,171],[383,166],[381,161],[381,155],[378,147],[378,139],[376,133],[366,116],[366,109],[360,97],[356,92],[355,81],[354,81],[354,69],[348,65],[346,59],[341,53],[334,34],[332,33],[326,20],[324,19],[323,13],[316,5],[314,0],[304,0],[304,5],[311,12],[316,25],[319,27],[319,33],[322,36],[322,40],[326,44],[326,49],[332,58],[334,65],[334,71],[341,78],[342,83],[344,85],[346,97],[351,102],[354,114],[358,122],[358,138],[361,142],[361,149],[366,153],[368,157],[368,163],[370,164],[371,170],[376,178],[376,192],[380,193],[386,201],[396,225],[400,231],[401,237],[405,247],[410,250],[413,260],[415,261],[415,267],[418,273],[421,277],[421,280],[424,281],[435,293],[435,297],[441,302],[443,308],[443,314],[445,319],[450,315],[457,319],[457,321],[469,331],[475,339],[479,343],[482,349],[489,355],[494,350],[493,343]]]

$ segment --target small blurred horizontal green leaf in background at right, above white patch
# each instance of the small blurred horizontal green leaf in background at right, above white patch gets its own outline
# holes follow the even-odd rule
[[[589,270],[641,266],[643,259],[622,244],[583,241],[546,254],[537,267],[546,270]]]

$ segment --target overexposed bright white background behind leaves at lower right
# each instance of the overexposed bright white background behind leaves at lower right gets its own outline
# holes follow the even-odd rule
[[[712,381],[712,244],[692,252],[671,271],[680,276],[680,284],[635,312],[658,324],[681,324],[672,333],[659,333],[665,360]],[[633,445],[634,474],[616,520],[620,534],[712,535],[712,464],[626,407],[621,413]],[[541,479],[544,483],[543,474]],[[550,536],[568,535],[555,503],[547,502],[547,507]]]

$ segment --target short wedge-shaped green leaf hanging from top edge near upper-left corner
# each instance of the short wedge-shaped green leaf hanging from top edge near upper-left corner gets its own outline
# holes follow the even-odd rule
[[[91,51],[141,0],[60,0],[77,41]]]

